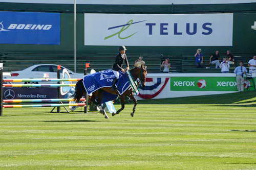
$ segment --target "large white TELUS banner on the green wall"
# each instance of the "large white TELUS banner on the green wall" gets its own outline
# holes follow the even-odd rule
[[[231,46],[233,14],[84,14],[84,45]]]

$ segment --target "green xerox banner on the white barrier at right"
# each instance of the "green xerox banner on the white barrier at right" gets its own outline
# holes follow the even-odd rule
[[[247,84],[244,84],[246,87]],[[172,91],[237,91],[235,77],[172,77]]]

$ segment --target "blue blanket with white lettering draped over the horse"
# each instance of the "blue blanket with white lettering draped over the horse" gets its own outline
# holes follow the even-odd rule
[[[112,82],[115,79],[112,69],[102,70],[83,77],[83,85],[88,94],[103,88],[112,87]],[[119,71],[119,79],[116,83],[117,91],[122,95],[127,89],[131,88],[129,78],[125,72]]]

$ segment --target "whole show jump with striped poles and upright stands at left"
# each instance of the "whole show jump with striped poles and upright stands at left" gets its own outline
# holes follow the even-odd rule
[[[90,67],[89,63],[86,63],[84,69],[84,75],[87,75],[87,68]],[[25,107],[57,107],[57,112],[60,112],[60,107],[66,106],[84,106],[84,113],[88,112],[88,95],[86,99],[80,99],[86,103],[69,103],[63,104],[62,102],[72,102],[73,99],[13,99],[13,100],[2,100],[3,87],[57,87],[58,98],[60,98],[60,87],[75,86],[76,84],[60,84],[63,81],[79,81],[81,79],[60,79],[61,66],[58,65],[57,79],[3,79],[3,63],[0,63],[0,116],[3,115],[3,108],[25,108]],[[6,72],[4,75],[8,75]],[[58,82],[58,84],[3,84],[3,82]],[[59,102],[58,104],[31,104],[31,105],[3,105],[3,103],[33,103],[33,102]],[[52,109],[52,111],[54,110]],[[52,112],[51,111],[51,112]],[[69,112],[66,109],[67,112]]]

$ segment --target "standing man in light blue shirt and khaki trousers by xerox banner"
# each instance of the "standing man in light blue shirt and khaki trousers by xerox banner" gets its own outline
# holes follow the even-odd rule
[[[240,61],[239,66],[234,69],[234,73],[237,75],[238,91],[244,91],[244,74],[247,72],[247,69],[243,64],[244,62]]]

